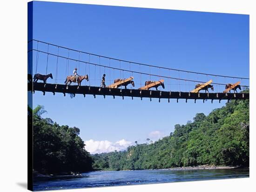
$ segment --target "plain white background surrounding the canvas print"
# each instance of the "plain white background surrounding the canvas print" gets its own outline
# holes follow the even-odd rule
[[[55,0],[113,6],[134,6],[250,15],[250,178],[168,184],[64,190],[68,192],[253,191],[255,176],[255,0]],[[0,1],[0,191],[27,191],[27,0]],[[241,64],[243,67],[243,64]],[[221,70],[221,69],[220,69]],[[6,81],[15,77],[11,81]],[[15,88],[14,86],[15,85]],[[253,182],[254,180],[254,182]],[[62,190],[63,191],[63,190]],[[63,191],[63,192],[64,192]],[[56,192],[56,191],[55,191]]]

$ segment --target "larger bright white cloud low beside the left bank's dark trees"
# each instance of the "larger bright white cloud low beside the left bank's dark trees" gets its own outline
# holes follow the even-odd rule
[[[85,141],[85,149],[91,154],[100,154],[100,153],[108,153],[112,151],[121,151],[125,150],[128,146],[132,144],[131,141],[126,141],[124,139],[116,142],[111,141],[94,141],[88,140]]]

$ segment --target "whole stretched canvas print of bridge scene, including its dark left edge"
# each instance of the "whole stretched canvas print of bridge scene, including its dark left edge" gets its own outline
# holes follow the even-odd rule
[[[29,190],[249,177],[249,15],[32,1],[27,48]]]

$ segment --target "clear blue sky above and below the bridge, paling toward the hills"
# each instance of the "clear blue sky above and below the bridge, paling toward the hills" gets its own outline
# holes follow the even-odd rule
[[[249,77],[249,15],[203,13],[161,9],[145,9],[118,6],[94,6],[82,4],[53,3],[34,1],[34,39],[46,41],[81,51],[131,60],[157,66],[192,70],[211,74]],[[39,45],[45,50],[44,45]],[[54,48],[52,52],[56,53]],[[61,54],[67,54],[64,50]],[[72,57],[77,57],[70,53]],[[67,55],[65,55],[67,56]],[[35,57],[35,54],[34,54]],[[86,60],[86,55],[81,55]],[[91,58],[96,62],[97,58]],[[35,59],[34,59],[35,60]],[[55,79],[56,58],[49,58],[48,72]],[[45,74],[46,56],[40,55],[38,73]],[[35,64],[35,63],[34,63]],[[104,59],[101,64],[107,64]],[[119,67],[113,62],[112,66]],[[127,68],[126,64],[121,63]],[[75,62],[69,63],[67,74],[71,75]],[[88,67],[80,64],[78,72],[89,73]],[[132,66],[133,70],[139,70]],[[35,66],[34,66],[35,70]],[[142,69],[147,71],[148,69]],[[90,70],[91,85],[99,85],[104,69]],[[158,74],[158,70],[151,72]],[[166,71],[165,71],[166,72]],[[165,73],[161,71],[162,73]],[[33,74],[35,71],[33,71]],[[107,84],[115,77],[106,70]],[[237,79],[178,74],[181,77],[217,83],[233,83]],[[122,74],[121,74],[122,76]],[[125,77],[130,74],[124,74]],[[58,83],[66,77],[66,60],[59,60]],[[136,88],[140,77],[134,75]],[[145,82],[148,77],[141,77]],[[158,77],[150,77],[155,80]],[[50,79],[48,83],[54,83]],[[238,81],[238,80],[237,80]],[[166,82],[166,81],[165,81]],[[166,82],[167,83],[167,82]],[[181,84],[181,85],[178,85]],[[242,81],[249,85],[249,81]],[[194,83],[170,82],[166,90],[188,91]],[[216,90],[222,91],[223,87]],[[81,129],[81,138],[86,141],[92,153],[123,149],[134,141],[145,142],[147,138],[157,140],[174,131],[174,125],[185,124],[196,113],[209,114],[212,109],[222,107],[225,102],[125,98],[106,96],[64,97],[63,94],[41,92],[34,94],[34,107],[43,105],[50,117],[60,125],[76,126]],[[96,142],[97,141],[97,142]],[[106,147],[107,146],[107,147]]]

